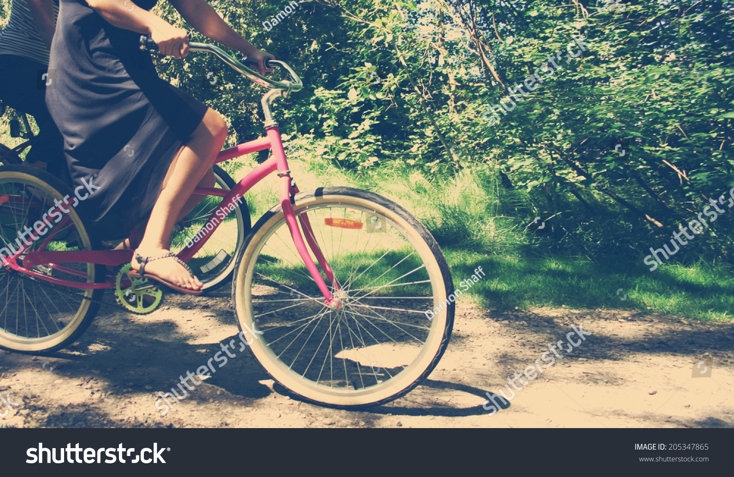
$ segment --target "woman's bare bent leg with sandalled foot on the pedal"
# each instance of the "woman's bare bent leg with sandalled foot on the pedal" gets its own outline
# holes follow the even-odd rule
[[[227,125],[213,109],[208,109],[204,119],[192,134],[191,139],[181,149],[169,167],[165,187],[150,212],[145,235],[137,252],[143,257],[162,255],[170,247],[171,232],[175,222],[184,212],[184,206],[193,206],[203,196],[191,197],[195,187],[211,171],[214,159],[222,150],[227,139]],[[193,205],[192,205],[193,204]],[[133,258],[132,268],[140,269],[140,263]],[[145,265],[146,273],[153,273],[184,288],[198,290],[203,284],[192,277],[181,264],[173,258],[163,258]]]

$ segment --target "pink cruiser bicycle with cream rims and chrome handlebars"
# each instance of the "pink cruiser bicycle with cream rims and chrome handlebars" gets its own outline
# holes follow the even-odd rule
[[[154,44],[142,37],[141,48]],[[435,239],[372,192],[299,192],[271,111],[275,98],[302,89],[286,63],[269,62],[290,76],[275,81],[214,45],[191,43],[191,50],[215,54],[269,88],[261,101],[266,136],[222,150],[217,161],[265,149],[272,156],[239,183],[197,188],[207,197],[175,230],[172,250],[205,290],[232,276],[240,335],[292,393],[340,408],[404,396],[433,371],[454,321],[451,273]],[[244,194],[272,172],[280,202],[250,230]],[[31,167],[0,167],[1,348],[40,354],[68,346],[108,288],[136,313],[159,306],[159,285],[128,277],[130,250],[98,250],[74,209],[79,193]]]

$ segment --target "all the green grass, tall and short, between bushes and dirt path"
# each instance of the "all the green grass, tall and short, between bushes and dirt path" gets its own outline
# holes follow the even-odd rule
[[[256,165],[247,157],[229,163],[227,170],[241,167],[234,178]],[[732,320],[734,274],[726,265],[699,261],[686,267],[669,261],[650,272],[636,258],[590,261],[542,251],[536,246],[538,238],[516,225],[522,217],[501,216],[498,189],[486,170],[465,170],[441,181],[418,172],[385,170],[357,176],[308,154],[288,165],[302,191],[318,186],[367,189],[417,216],[443,248],[455,288],[482,266],[487,276],[459,296],[459,302],[473,301],[492,310],[566,305]],[[277,202],[275,175],[246,198],[254,224]]]

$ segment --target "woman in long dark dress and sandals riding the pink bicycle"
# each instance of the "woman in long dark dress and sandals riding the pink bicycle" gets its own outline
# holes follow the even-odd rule
[[[199,32],[246,55],[266,72],[258,50],[204,0],[169,0]],[[189,53],[186,31],[149,12],[156,0],[61,0],[49,68],[57,87],[46,103],[65,139],[73,186],[88,186],[77,209],[100,230],[122,238],[145,226],[132,268],[185,293],[202,283],[168,251],[175,223],[214,186],[211,166],[227,137],[222,117],[159,78],[148,34],[162,54]],[[268,70],[272,71],[272,70]],[[93,182],[93,186],[91,185]],[[147,225],[145,220],[147,219]]]

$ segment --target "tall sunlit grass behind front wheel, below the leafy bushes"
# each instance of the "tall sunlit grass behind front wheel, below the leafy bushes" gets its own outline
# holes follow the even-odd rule
[[[239,180],[257,166],[255,154],[232,159],[222,167]],[[299,189],[320,186],[351,186],[366,189],[406,208],[429,228],[442,247],[461,247],[491,253],[528,244],[517,218],[503,216],[506,205],[498,200],[498,179],[490,167],[465,169],[450,178],[426,178],[420,172],[377,170],[356,175],[308,152],[288,159]],[[505,203],[522,200],[502,192]],[[277,203],[277,177],[271,175],[246,195],[253,223]]]

